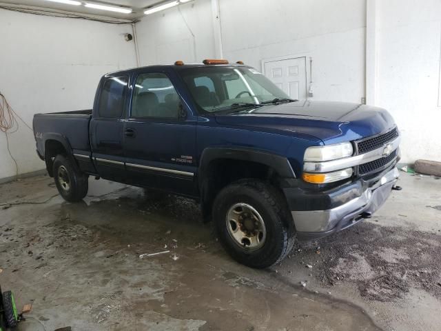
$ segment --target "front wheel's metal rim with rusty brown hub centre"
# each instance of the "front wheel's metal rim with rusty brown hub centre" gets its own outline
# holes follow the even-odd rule
[[[259,212],[248,203],[236,203],[226,217],[227,230],[234,243],[245,250],[258,250],[265,243],[267,230]]]

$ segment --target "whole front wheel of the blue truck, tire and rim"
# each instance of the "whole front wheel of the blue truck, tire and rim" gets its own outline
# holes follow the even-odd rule
[[[216,234],[225,250],[252,268],[267,268],[290,252],[294,225],[283,195],[254,179],[223,188],[214,200]]]

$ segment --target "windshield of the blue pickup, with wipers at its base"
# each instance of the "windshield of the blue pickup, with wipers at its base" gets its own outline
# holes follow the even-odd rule
[[[189,68],[181,71],[181,77],[198,106],[206,112],[290,100],[283,90],[253,68]]]

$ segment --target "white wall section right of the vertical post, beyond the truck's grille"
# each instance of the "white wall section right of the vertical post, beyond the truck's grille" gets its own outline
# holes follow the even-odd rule
[[[380,0],[378,106],[402,131],[402,161],[441,161],[441,1]]]

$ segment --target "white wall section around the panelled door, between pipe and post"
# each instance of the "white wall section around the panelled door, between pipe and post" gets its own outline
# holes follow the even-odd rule
[[[365,10],[364,0],[220,0],[224,57],[261,70],[263,59],[312,57],[314,100],[360,102]]]

